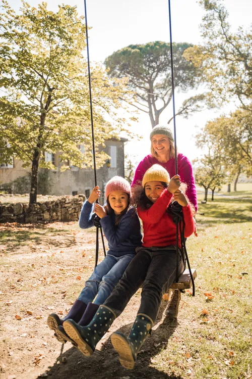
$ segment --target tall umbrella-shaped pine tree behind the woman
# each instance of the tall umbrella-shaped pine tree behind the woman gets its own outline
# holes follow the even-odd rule
[[[197,85],[197,67],[183,57],[192,44],[173,42],[172,46],[175,88],[187,91]],[[128,79],[128,86],[135,93],[131,104],[149,114],[152,127],[157,125],[160,114],[172,99],[169,43],[155,41],[129,45],[107,57],[105,65],[109,76]],[[187,99],[178,114],[188,116],[200,111],[203,98],[198,95]]]

